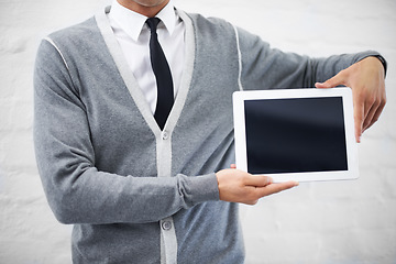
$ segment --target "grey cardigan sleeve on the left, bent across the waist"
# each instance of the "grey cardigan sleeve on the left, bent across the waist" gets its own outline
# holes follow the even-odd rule
[[[215,174],[136,177],[100,172],[85,105],[50,38],[42,42],[35,62],[34,146],[48,204],[63,223],[153,222],[219,199]]]

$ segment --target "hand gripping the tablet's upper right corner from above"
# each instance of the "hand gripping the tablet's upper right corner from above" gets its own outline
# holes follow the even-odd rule
[[[317,88],[340,85],[352,88],[355,138],[361,142],[362,133],[378,120],[386,103],[384,66],[378,58],[366,57],[327,81],[315,84]]]

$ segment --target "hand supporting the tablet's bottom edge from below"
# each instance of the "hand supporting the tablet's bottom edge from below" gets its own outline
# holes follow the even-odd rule
[[[227,168],[216,174],[220,200],[255,205],[260,198],[298,186],[296,182],[274,184],[264,175],[251,175],[240,169]]]

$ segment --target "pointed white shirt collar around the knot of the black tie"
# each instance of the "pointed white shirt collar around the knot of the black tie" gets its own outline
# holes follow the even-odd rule
[[[147,16],[131,11],[113,0],[109,15],[127,32],[134,41],[138,41]],[[172,0],[161,10],[156,18],[161,19],[167,32],[172,35],[175,30],[178,15],[175,12]],[[161,24],[158,25],[161,28]]]

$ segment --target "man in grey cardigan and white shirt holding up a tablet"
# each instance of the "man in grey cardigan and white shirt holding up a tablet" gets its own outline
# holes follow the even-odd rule
[[[154,16],[157,30],[146,22]],[[163,127],[151,63],[156,33],[174,94]],[[235,202],[254,205],[297,183],[227,168],[232,92],[348,85],[359,141],[385,105],[380,59],[285,54],[169,0],[118,0],[50,35],[36,58],[34,139],[50,206],[75,224],[74,262],[243,263]]]

